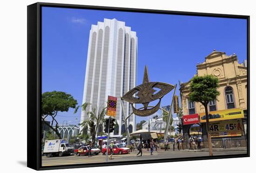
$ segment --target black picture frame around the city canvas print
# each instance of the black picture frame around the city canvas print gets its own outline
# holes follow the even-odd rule
[[[40,119],[40,110],[41,110],[40,103],[41,103],[41,8],[43,6],[246,19],[247,20],[247,63],[248,63],[247,154],[42,167],[41,166],[41,133],[40,133],[42,124]],[[249,143],[250,143],[249,19],[250,17],[245,15],[178,12],[178,11],[166,11],[166,10],[151,10],[151,9],[149,10],[149,9],[121,8],[121,7],[108,7],[108,6],[86,6],[86,5],[73,5],[73,4],[41,3],[41,2],[27,6],[27,167],[30,167],[35,170],[49,170],[49,169],[64,169],[64,168],[115,166],[115,165],[125,165],[125,164],[131,165],[131,164],[145,164],[145,163],[159,163],[159,162],[173,162],[173,161],[187,161],[187,160],[209,160],[209,159],[249,157],[250,155],[250,152],[249,152]]]

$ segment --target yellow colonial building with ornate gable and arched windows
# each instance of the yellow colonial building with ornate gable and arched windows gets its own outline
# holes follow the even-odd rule
[[[242,109],[247,115],[247,64],[239,64],[236,54],[226,55],[225,52],[214,50],[205,61],[197,63],[197,76],[213,75],[219,79],[220,96],[209,103],[209,111]],[[189,83],[180,83],[180,96],[183,115],[202,114],[205,112],[201,103],[189,101]],[[241,119],[240,119],[241,120]],[[244,129],[246,122],[243,119]],[[246,131],[246,130],[245,130]]]

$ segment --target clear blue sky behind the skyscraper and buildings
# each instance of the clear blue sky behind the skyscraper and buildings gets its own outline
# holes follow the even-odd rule
[[[145,65],[151,82],[178,84],[192,78],[196,64],[214,49],[236,53],[239,63],[247,58],[246,19],[43,7],[42,92],[64,91],[81,105],[89,31],[104,18],[124,21],[137,33],[138,85]],[[162,106],[170,104],[171,97],[172,92],[164,96]],[[59,124],[66,120],[77,125],[81,110],[73,112],[59,113]]]

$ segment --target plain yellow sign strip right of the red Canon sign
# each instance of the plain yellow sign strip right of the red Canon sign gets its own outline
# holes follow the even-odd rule
[[[199,113],[200,122],[206,122],[205,113]],[[209,122],[244,118],[243,109],[226,109],[209,112]]]

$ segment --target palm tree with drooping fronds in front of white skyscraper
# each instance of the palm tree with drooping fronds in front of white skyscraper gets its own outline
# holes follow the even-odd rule
[[[82,110],[86,111],[86,108],[88,107],[90,103],[84,103],[82,105]],[[92,136],[92,143],[95,143],[95,136],[99,127],[99,124],[103,124],[105,122],[105,115],[106,115],[106,109],[103,108],[101,110],[92,108],[92,111],[89,111],[87,115],[89,115],[89,119],[81,122],[79,125],[81,127],[89,127],[90,135]]]

